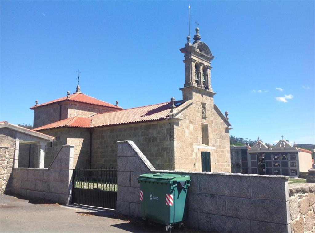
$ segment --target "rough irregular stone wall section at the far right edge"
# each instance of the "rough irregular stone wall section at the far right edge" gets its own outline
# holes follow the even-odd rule
[[[315,183],[289,185],[291,232],[315,232]]]

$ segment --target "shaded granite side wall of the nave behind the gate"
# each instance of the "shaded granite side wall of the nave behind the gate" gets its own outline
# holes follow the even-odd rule
[[[159,169],[174,169],[174,123],[167,120],[92,130],[92,164],[117,166],[117,141],[133,140]]]

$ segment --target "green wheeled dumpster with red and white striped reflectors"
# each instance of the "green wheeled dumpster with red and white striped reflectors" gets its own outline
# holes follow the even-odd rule
[[[190,176],[169,173],[142,174],[140,183],[141,217],[166,224],[182,224],[186,217],[186,196]]]

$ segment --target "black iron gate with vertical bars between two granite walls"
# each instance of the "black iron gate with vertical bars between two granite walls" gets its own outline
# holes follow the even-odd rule
[[[72,204],[116,209],[117,169],[73,169]]]

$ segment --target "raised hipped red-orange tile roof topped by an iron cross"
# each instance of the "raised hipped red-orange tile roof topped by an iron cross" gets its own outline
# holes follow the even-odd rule
[[[44,105],[49,105],[49,104],[54,104],[54,103],[59,103],[62,101],[75,101],[75,102],[80,102],[80,103],[86,103],[86,104],[92,104],[92,105],[99,105],[99,106],[105,106],[105,107],[110,107],[110,108],[116,108],[116,109],[123,109],[122,107],[119,106],[115,106],[113,104],[109,104],[105,101],[99,100],[99,99],[95,99],[89,95],[83,94],[83,93],[73,93],[71,95],[69,95],[70,98],[67,98],[66,96],[61,97],[59,99],[55,99],[43,104],[38,104],[38,105],[34,105],[31,106],[30,109],[34,109],[40,106],[44,106]]]

